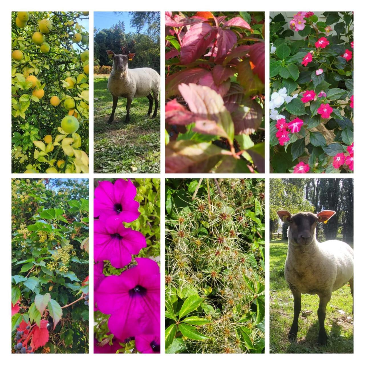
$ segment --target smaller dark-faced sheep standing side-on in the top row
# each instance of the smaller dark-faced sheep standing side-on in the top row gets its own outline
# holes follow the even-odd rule
[[[127,98],[127,115],[125,123],[130,121],[129,110],[132,100],[135,97],[146,96],[150,102],[147,115],[150,115],[155,100],[155,110],[152,118],[157,115],[158,95],[160,93],[160,75],[151,68],[143,67],[128,70],[128,60],[132,60],[135,53],[127,55],[115,54],[113,51],[107,50],[107,54],[113,59],[113,68],[108,80],[108,90],[113,97],[113,110],[108,123],[114,120],[114,112],[118,103],[118,97]],[[151,95],[151,91],[153,96]]]

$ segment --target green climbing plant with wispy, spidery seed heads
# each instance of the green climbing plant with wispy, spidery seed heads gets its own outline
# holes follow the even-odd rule
[[[167,353],[263,352],[264,190],[166,180]]]

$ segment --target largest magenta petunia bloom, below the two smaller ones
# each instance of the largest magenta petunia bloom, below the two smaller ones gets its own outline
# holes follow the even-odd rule
[[[101,281],[95,291],[97,307],[111,314],[109,330],[122,341],[143,333],[160,332],[160,270],[149,258]]]

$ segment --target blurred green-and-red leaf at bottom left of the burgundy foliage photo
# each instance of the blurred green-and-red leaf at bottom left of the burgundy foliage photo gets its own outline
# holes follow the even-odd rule
[[[170,142],[165,151],[166,173],[208,172],[222,155],[230,155],[211,143],[181,140]]]

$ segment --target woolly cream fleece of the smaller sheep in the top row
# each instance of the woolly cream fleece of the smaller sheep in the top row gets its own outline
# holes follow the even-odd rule
[[[114,96],[131,99],[147,96],[151,91],[158,97],[160,75],[148,67],[127,69],[124,73],[112,70],[108,80],[108,90]]]

